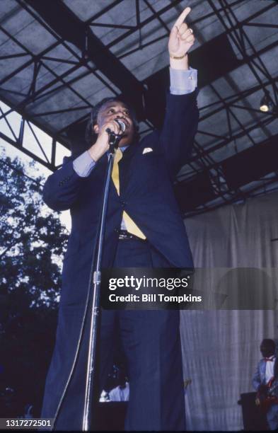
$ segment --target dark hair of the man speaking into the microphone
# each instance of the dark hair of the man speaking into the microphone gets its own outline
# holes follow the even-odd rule
[[[130,117],[134,125],[134,139],[139,139],[139,126],[134,109],[120,97],[104,98],[103,100],[100,100],[100,102],[97,103],[91,110],[91,116],[88,120],[85,130],[85,141],[88,146],[91,146],[95,142],[96,137],[98,137],[98,134],[95,134],[95,132],[93,131],[93,127],[98,122],[98,113],[100,112],[100,108],[102,108],[103,105],[105,105],[106,103],[115,101],[124,103],[124,105],[126,105],[126,107],[128,108],[130,112]]]

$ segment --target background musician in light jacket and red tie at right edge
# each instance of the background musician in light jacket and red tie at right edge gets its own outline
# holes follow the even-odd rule
[[[262,340],[260,345],[260,351],[262,352],[263,358],[257,364],[257,369],[253,376],[253,388],[258,392],[258,396],[264,398],[267,392],[270,390],[270,383],[273,387],[272,393],[272,404],[267,410],[267,422],[270,426],[270,430],[278,429],[278,388],[275,383],[278,381],[278,362],[275,357],[275,342],[269,338]],[[274,383],[275,381],[275,383]],[[278,387],[278,384],[277,384]],[[261,398],[257,398],[256,404],[260,405],[263,403],[260,401]]]

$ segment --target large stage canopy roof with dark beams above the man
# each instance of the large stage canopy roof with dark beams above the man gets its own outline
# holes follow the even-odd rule
[[[198,69],[200,121],[176,185],[183,212],[276,189],[278,6],[272,0],[1,0],[1,139],[54,170],[61,162],[57,146],[83,142],[93,105],[119,95],[136,108],[141,134],[160,127],[167,38],[185,6],[192,8],[188,23],[197,39],[190,65]],[[261,112],[267,91],[274,108]]]

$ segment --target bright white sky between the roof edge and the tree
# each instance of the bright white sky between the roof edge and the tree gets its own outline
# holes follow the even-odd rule
[[[8,105],[0,101],[0,117],[2,113],[8,112],[8,110],[10,110]],[[9,125],[6,122],[6,120],[8,120]],[[14,140],[15,137],[13,134],[15,134],[16,137],[18,137],[19,135],[19,130],[21,127],[21,115],[13,111],[8,115],[6,115],[6,120],[4,117],[0,119],[0,132],[2,132],[2,134],[5,134],[6,136]],[[40,128],[33,125],[32,122],[30,122],[30,127],[27,123],[25,123],[24,134],[23,134],[23,147],[25,147],[25,149],[28,149],[29,151],[32,151],[34,154],[40,156],[46,161],[45,155],[42,153],[39,144],[37,144],[32,129],[33,132],[35,133],[35,136],[37,137],[37,140],[40,142],[42,149],[45,151],[45,155],[47,156],[47,158],[50,159],[52,137],[50,137],[48,134],[43,132]],[[35,161],[34,167],[30,167],[29,163],[33,161],[33,158],[30,158],[30,156],[24,154],[23,151],[17,149],[15,146],[6,142],[1,137],[0,137],[0,149],[2,149],[4,151],[4,154],[6,156],[9,156],[12,160],[18,157],[21,163],[23,163],[24,173],[30,176],[30,178],[35,179],[40,175],[44,175],[45,178],[47,178],[52,173],[52,171],[50,171],[48,168],[38,163],[37,161]],[[64,147],[62,144],[57,143],[55,165],[61,164],[64,156],[69,156],[69,155],[70,155],[69,149],[66,149],[66,147]],[[69,211],[61,212],[60,220],[62,224],[66,226],[66,229],[70,231],[71,217]]]

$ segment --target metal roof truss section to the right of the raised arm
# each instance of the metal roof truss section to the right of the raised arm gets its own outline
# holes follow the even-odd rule
[[[248,66],[248,68],[250,69],[250,73],[255,76],[255,79],[259,83],[258,86],[256,86],[255,91],[257,91],[259,89],[266,90],[267,86],[271,85],[273,95],[274,95],[274,101],[272,100],[272,103],[274,103],[274,105],[277,106],[278,105],[277,104],[277,101],[278,101],[277,78],[278,77],[272,77],[271,76],[270,72],[267,70],[267,67],[265,66],[265,63],[262,62],[262,59],[260,58],[260,55],[262,54],[262,52],[257,52],[255,50],[255,47],[253,46],[250,38],[248,37],[248,35],[245,33],[245,30],[244,30],[245,25],[254,25],[254,23],[250,23],[249,21],[253,20],[255,18],[255,16],[258,16],[258,13],[254,14],[253,16],[248,17],[248,20],[240,22],[240,21],[238,21],[235,13],[233,12],[233,8],[231,7],[232,5],[228,4],[227,0],[219,0],[219,4],[221,5],[222,11],[224,11],[224,16],[226,17],[226,21],[228,21],[228,25],[227,25],[226,21],[224,20],[223,14],[219,10],[219,8],[216,8],[215,2],[213,0],[208,0],[208,1],[209,1],[210,6],[213,9],[215,15],[219,18],[219,21],[221,22],[221,24],[224,25],[226,32],[230,35],[231,39],[233,40],[233,43],[236,45],[236,47],[238,48],[238,51],[243,56],[243,60],[244,60],[245,64]],[[267,11],[268,9],[270,9],[274,6],[277,6],[277,5],[270,4],[266,8],[264,8],[264,11]],[[262,13],[262,11],[260,11],[260,14],[261,13]],[[257,24],[259,24],[261,27],[265,26],[265,23],[257,23]],[[272,27],[272,28],[278,28],[278,25],[266,25],[266,26]],[[274,45],[276,46],[277,44],[275,43]],[[247,53],[247,51],[246,51],[247,47],[251,48],[251,50],[252,50],[251,55]],[[267,50],[270,50],[270,47],[267,47]],[[265,50],[261,50],[261,51],[265,52]],[[260,78],[260,75],[258,74],[258,71],[260,71],[261,74],[264,75],[265,80],[267,80],[267,82],[262,81],[262,79]],[[236,104],[236,102],[238,102],[239,100],[243,100],[244,98],[246,98],[247,95],[251,95],[252,93],[254,93],[254,89],[253,89],[253,91],[251,89],[248,92],[246,92],[246,91],[242,92],[239,95],[236,95],[236,98],[230,98],[230,100],[227,103],[227,101],[221,97],[219,92],[216,91],[216,88],[213,84],[211,84],[210,87],[212,88],[214,93],[216,93],[216,96],[219,98],[219,101],[221,101],[221,106],[216,108],[216,110],[214,110],[213,114],[211,114],[211,115],[215,115],[217,112],[219,112],[223,109],[226,111],[226,118],[227,118],[227,124],[228,124],[228,137],[221,137],[222,141],[219,144],[216,144],[215,146],[212,146],[209,149],[206,149],[204,151],[205,154],[212,153],[212,151],[215,151],[216,149],[220,149],[221,147],[226,146],[228,143],[233,142],[237,137],[243,137],[243,136],[247,137],[248,140],[252,143],[252,145],[255,146],[256,144],[253,140],[253,137],[250,135],[250,132],[252,132],[253,129],[257,129],[257,127],[260,127],[262,130],[264,130],[265,125],[269,125],[270,122],[277,120],[277,113],[267,112],[267,115],[262,115],[260,110],[255,110],[254,108],[252,108],[250,106],[246,107],[244,105]],[[233,108],[240,108],[241,110],[247,110],[248,112],[260,113],[260,115],[262,116],[262,120],[260,120],[258,123],[257,118],[256,118],[253,125],[250,125],[250,127],[245,127],[243,125],[243,123],[241,122],[241,120],[238,119],[238,116],[233,111]],[[207,116],[207,117],[209,117],[209,116]],[[231,117],[233,117],[233,120],[236,121],[238,127],[241,128],[241,132],[239,132],[237,135],[233,134],[231,131]],[[202,116],[201,116],[201,120],[202,120]],[[219,139],[219,137],[215,137],[215,138]],[[277,172],[274,173],[274,176],[271,180],[268,180],[268,179],[263,180],[262,179],[262,181],[259,183],[259,185],[248,190],[248,192],[243,192],[243,190],[241,188],[238,188],[238,190],[236,190],[236,191],[229,190],[228,185],[226,185],[226,183],[225,183],[225,176],[221,170],[221,163],[216,163],[216,164],[214,163],[213,165],[210,165],[207,168],[209,168],[211,171],[212,171],[212,168],[214,168],[214,170],[216,171],[216,178],[218,179],[218,185],[219,185],[219,190],[218,190],[217,196],[218,197],[222,196],[222,199],[223,199],[218,204],[211,204],[209,206],[209,210],[216,209],[217,207],[221,207],[223,204],[231,204],[234,202],[246,200],[248,197],[253,197],[254,195],[257,195],[257,192],[260,190],[262,190],[263,192],[266,192],[265,188],[268,185],[272,185],[272,184],[276,183],[276,187],[272,188],[272,190],[278,189],[278,177],[277,177],[278,173]],[[225,191],[224,194],[223,194],[223,191]],[[262,191],[260,191],[259,193],[262,193]],[[221,194],[221,192],[222,192],[222,194]],[[199,214],[199,213],[206,212],[206,211],[207,211],[207,206],[204,205],[204,206],[200,207],[200,209],[197,209],[194,212],[188,213],[187,216],[189,217],[189,216],[192,216],[194,214]]]

